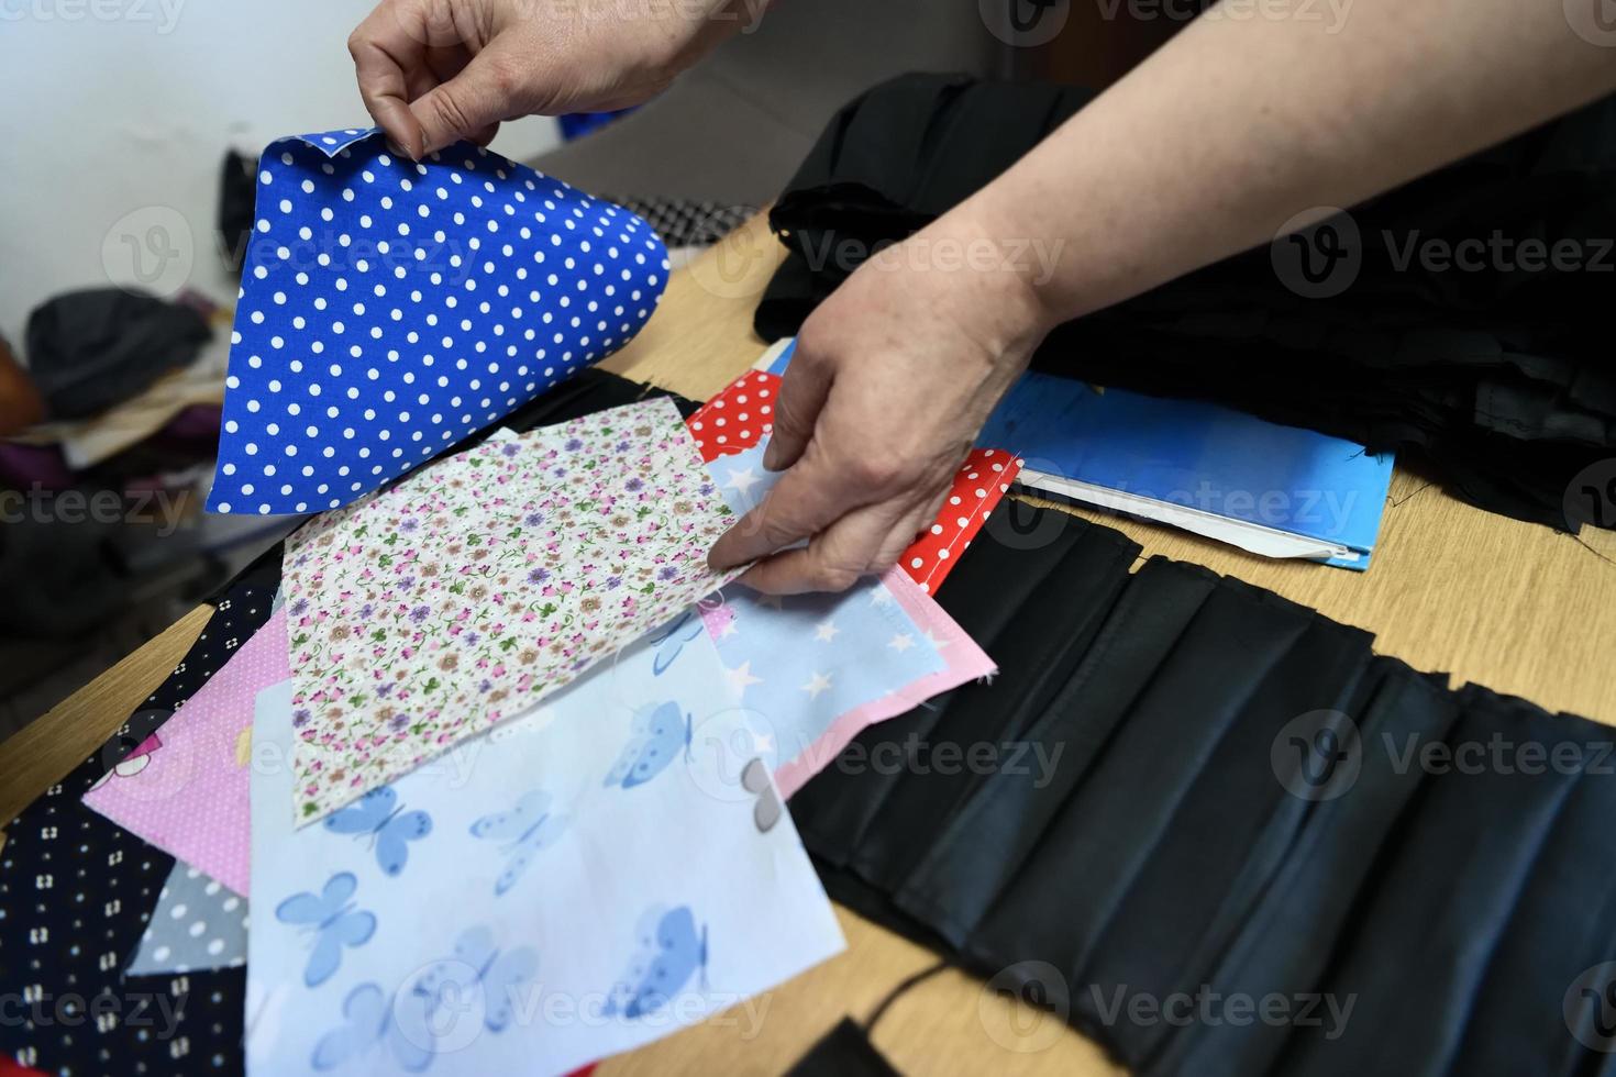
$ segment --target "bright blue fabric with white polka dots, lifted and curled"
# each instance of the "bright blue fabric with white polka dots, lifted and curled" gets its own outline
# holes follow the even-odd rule
[[[377,489],[622,347],[667,279],[643,220],[470,144],[333,131],[259,168],[213,512]]]

